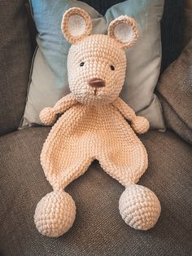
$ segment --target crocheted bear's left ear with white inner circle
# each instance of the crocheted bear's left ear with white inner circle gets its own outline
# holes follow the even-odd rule
[[[61,30],[70,43],[76,43],[90,35],[92,22],[89,14],[81,8],[70,8],[63,14]]]

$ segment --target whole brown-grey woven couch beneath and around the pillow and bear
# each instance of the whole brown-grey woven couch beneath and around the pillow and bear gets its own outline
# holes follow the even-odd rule
[[[96,1],[87,2],[93,5]],[[107,8],[106,2],[102,8]],[[147,232],[128,227],[118,210],[124,188],[94,161],[67,188],[76,201],[76,221],[59,238],[42,236],[33,222],[37,202],[51,191],[39,159],[50,127],[17,130],[34,47],[29,32],[35,29],[30,17],[28,20],[26,1],[0,2],[0,255],[192,254],[192,42],[190,15],[181,11],[181,2],[167,1],[162,21],[168,30],[162,29],[163,64],[157,93],[167,130],[150,130],[140,136],[149,155],[149,168],[139,184],[159,197],[162,212],[158,223]],[[180,20],[184,14],[185,28],[190,27],[187,32],[172,23],[176,15]],[[171,38],[170,31],[176,30]]]

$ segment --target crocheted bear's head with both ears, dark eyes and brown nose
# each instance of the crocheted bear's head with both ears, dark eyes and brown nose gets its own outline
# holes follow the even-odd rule
[[[68,82],[82,104],[110,104],[124,84],[126,55],[138,37],[137,24],[129,16],[111,21],[104,34],[92,34],[90,16],[80,8],[63,15],[61,29],[72,43],[68,52]]]

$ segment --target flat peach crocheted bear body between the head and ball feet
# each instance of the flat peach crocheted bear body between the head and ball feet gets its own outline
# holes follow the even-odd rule
[[[144,121],[137,123],[139,131],[149,127],[146,122],[145,128]],[[41,152],[41,164],[50,184],[64,189],[84,174],[94,159],[125,187],[136,183],[147,167],[146,149],[118,109],[108,104],[76,104],[52,128]]]

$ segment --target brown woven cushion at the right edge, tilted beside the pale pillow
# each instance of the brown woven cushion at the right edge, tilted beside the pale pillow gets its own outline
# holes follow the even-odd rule
[[[166,125],[192,142],[192,39],[159,80]]]

